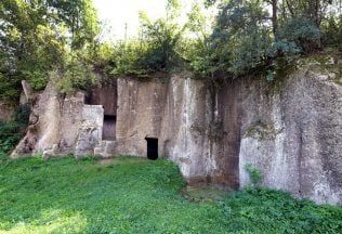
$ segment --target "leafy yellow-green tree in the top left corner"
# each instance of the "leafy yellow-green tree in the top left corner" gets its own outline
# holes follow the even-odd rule
[[[93,48],[97,32],[91,0],[2,0],[0,99],[17,98],[22,79],[43,89],[68,50]]]

